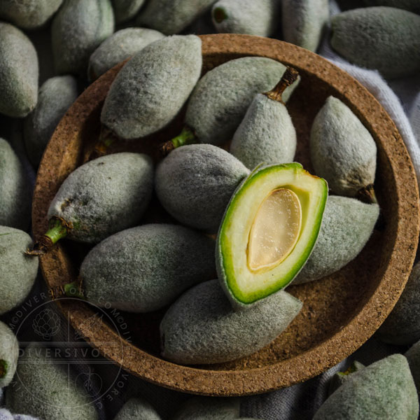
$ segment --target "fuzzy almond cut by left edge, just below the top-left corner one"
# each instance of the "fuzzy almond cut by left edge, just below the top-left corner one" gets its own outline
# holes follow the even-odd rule
[[[18,28],[0,22],[0,113],[27,116],[38,99],[38,56]]]

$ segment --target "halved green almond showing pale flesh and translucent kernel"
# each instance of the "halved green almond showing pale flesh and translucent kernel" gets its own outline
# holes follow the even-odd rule
[[[235,309],[285,288],[314,247],[327,182],[300,163],[255,169],[232,195],[216,244],[218,278]]]

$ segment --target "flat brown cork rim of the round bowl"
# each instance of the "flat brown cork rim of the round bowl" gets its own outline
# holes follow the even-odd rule
[[[332,337],[293,358],[250,370],[204,370],[176,365],[126,341],[123,342],[122,360],[121,356],[114,353],[113,347],[106,343],[111,339],[118,339],[116,332],[105,324],[95,330],[83,328],[83,321],[91,315],[87,305],[61,302],[59,306],[70,311],[71,324],[83,333],[87,342],[96,347],[104,357],[122,365],[123,369],[137,377],[186,393],[219,396],[252,395],[291,386],[321,374],[353,353],[379,328],[398,301],[414,262],[420,230],[419,190],[412,162],[395,124],[377,99],[348,73],[309,50],[271,38],[238,34],[211,34],[200,38],[202,50],[209,57],[217,59],[218,56],[226,55],[232,55],[232,58],[258,55],[294,66],[298,71],[311,73],[332,86],[337,94],[346,97],[353,106],[353,112],[371,133],[374,132],[374,137],[384,148],[390,162],[398,197],[395,242],[381,281],[358,314]],[[46,226],[46,211],[43,209],[45,186],[48,186],[55,176],[48,162],[57,154],[72,153],[69,145],[82,127],[82,121],[97,106],[99,102],[97,98],[104,97],[108,90],[104,86],[109,87],[122,66],[123,63],[118,64],[87,87],[67,111],[52,135],[41,160],[34,189],[32,218],[36,239],[43,234]],[[360,104],[363,104],[363,107]],[[73,123],[75,118],[76,126]],[[71,127],[69,121],[72,121]],[[55,171],[58,169],[55,168]],[[58,181],[55,179],[54,182]],[[57,272],[57,264],[65,265],[62,252],[62,248],[57,246],[41,257],[43,277],[50,287],[56,286],[50,279],[50,273]],[[55,275],[62,274],[57,272]],[[104,339],[104,336],[108,339]]]

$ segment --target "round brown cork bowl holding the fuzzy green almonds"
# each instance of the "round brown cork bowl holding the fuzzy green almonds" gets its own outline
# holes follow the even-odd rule
[[[272,344],[251,356],[218,365],[183,366],[160,358],[159,323],[165,310],[150,314],[120,312],[131,340],[82,301],[59,302],[85,339],[109,360],[138,377],[167,388],[204,395],[249,395],[307,380],[358,349],[384,321],[402,292],[419,237],[419,192],[412,162],[391,118],[372,95],[347,73],[295,45],[242,35],[202,36],[203,72],[230,59],[259,55],[295,67],[302,78],[288,110],[297,130],[295,160],[311,171],[308,141],[311,123],[325,99],[334,95],[347,104],[378,146],[375,190],[381,206],[379,227],[362,253],[349,265],[319,281],[288,287],[304,302],[301,313]],[[49,204],[62,181],[97,140],[99,114],[119,64],[83,92],[50,140],[38,171],[34,193],[36,238],[47,228]],[[118,142],[113,151],[149,153],[158,160],[158,145],[178,134],[183,112],[174,123],[141,141]],[[157,200],[144,223],[171,221]],[[63,240],[41,257],[41,269],[52,289],[74,281],[89,246]],[[111,309],[110,309],[111,311]],[[120,342],[120,346],[113,343]]]

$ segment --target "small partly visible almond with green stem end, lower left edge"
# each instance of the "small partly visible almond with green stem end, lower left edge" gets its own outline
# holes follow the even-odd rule
[[[0,321],[0,388],[8,386],[18,365],[19,343],[5,323]]]

